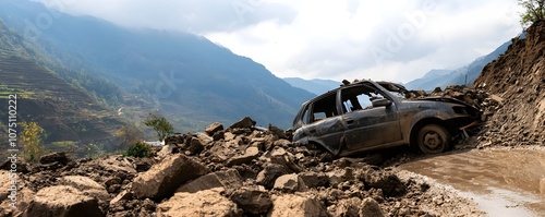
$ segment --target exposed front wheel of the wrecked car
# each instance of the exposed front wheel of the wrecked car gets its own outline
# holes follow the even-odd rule
[[[451,146],[452,136],[443,125],[427,124],[419,130],[416,144],[424,154],[438,154]]]

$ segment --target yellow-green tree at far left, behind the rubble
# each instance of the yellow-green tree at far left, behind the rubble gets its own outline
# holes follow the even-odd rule
[[[46,131],[34,121],[24,121],[21,125],[23,126],[20,135],[23,143],[23,157],[31,162],[36,162],[45,153],[43,137]]]

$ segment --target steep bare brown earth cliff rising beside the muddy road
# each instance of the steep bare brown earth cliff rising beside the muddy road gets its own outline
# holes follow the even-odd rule
[[[493,144],[544,144],[545,140],[545,22],[513,38],[505,55],[487,64],[475,87],[502,98],[489,122]]]

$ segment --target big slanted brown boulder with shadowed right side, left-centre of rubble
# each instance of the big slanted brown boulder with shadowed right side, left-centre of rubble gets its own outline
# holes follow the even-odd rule
[[[208,169],[193,158],[177,154],[165,158],[149,170],[138,174],[132,189],[140,198],[161,200],[190,180],[206,174]]]

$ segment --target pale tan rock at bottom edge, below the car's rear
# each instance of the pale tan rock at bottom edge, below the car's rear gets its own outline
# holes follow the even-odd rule
[[[272,198],[268,217],[329,216],[318,200],[305,195],[284,194]]]

